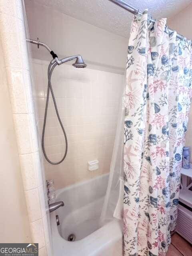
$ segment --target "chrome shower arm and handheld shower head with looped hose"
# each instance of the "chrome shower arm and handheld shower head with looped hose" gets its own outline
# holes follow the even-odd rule
[[[46,98],[46,105],[45,105],[43,131],[42,131],[42,150],[43,150],[43,154],[44,154],[45,159],[47,160],[47,162],[49,162],[50,164],[60,164],[66,158],[67,150],[68,150],[68,142],[67,142],[66,132],[64,130],[62,121],[60,119],[60,115],[59,115],[59,112],[58,112],[55,96],[54,96],[53,89],[52,89],[52,84],[51,84],[52,72],[53,72],[54,68],[57,65],[61,65],[61,64],[65,63],[65,62],[68,62],[70,60],[76,60],[75,63],[72,64],[75,68],[85,68],[87,65],[85,64],[81,55],[69,56],[69,57],[66,57],[66,58],[63,58],[63,59],[60,60],[60,59],[58,59],[57,54],[55,54],[53,50],[51,50],[46,44],[39,41],[39,38],[37,38],[37,40],[32,40],[32,39],[26,39],[26,40],[27,40],[27,42],[30,42],[32,44],[36,44],[38,46],[38,48],[39,48],[39,46],[44,46],[50,52],[50,54],[53,57],[53,60],[50,62],[49,66],[48,66],[48,88],[47,88],[47,98]],[[65,138],[65,153],[64,153],[63,158],[58,162],[52,162],[52,161],[49,160],[48,156],[46,155],[45,146],[44,146],[44,136],[45,136],[45,128],[46,128],[47,110],[48,110],[50,91],[51,91],[51,95],[52,95],[52,98],[53,98],[56,115],[57,115],[58,121],[60,123],[60,126],[61,126],[63,134],[64,134],[64,138]]]

